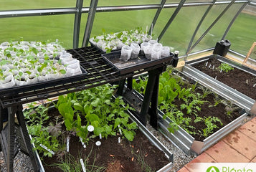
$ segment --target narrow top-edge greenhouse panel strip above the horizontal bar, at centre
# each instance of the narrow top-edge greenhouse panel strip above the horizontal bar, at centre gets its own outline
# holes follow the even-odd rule
[[[98,0],[98,6],[127,6],[127,5],[145,5],[145,4],[160,4],[161,0]],[[90,1],[85,1],[83,6],[90,6]]]

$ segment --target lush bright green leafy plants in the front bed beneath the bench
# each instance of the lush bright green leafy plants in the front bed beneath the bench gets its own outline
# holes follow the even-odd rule
[[[87,142],[87,126],[93,125],[93,135],[116,135],[121,130],[123,136],[133,140],[137,125],[130,123],[125,105],[121,97],[113,99],[113,92],[117,86],[102,85],[60,96],[56,107],[62,114],[67,130],[73,130]]]

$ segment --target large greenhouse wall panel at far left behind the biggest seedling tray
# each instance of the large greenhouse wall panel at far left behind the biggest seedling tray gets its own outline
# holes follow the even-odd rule
[[[74,15],[29,16],[1,19],[0,42],[52,41],[59,39],[66,49],[72,48]]]

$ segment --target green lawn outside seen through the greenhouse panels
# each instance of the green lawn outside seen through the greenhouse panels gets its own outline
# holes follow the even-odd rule
[[[88,2],[85,1],[88,5]],[[130,5],[136,3],[133,1],[118,1],[118,5]],[[139,1],[140,4],[157,4],[159,0],[143,0]],[[14,7],[12,4],[16,4]],[[85,3],[84,3],[85,4]],[[115,1],[103,1],[99,0],[99,6],[105,6],[107,4],[114,5]],[[8,7],[9,6],[9,7]],[[14,1],[4,0],[4,5],[0,7],[3,9],[37,9],[37,8],[57,8],[60,7],[72,7],[75,6],[75,0],[26,0],[26,1]],[[237,8],[237,6],[234,6]],[[196,28],[199,20],[201,19],[207,6],[191,6],[184,7],[179,11],[179,14],[174,19],[166,34],[163,35],[161,43],[174,47],[179,50],[181,54],[185,54],[189,41],[194,29]],[[204,31],[212,24],[217,15],[224,9],[224,6],[216,6],[212,9],[211,13],[207,16],[207,20],[202,24],[196,39],[204,33]],[[173,14],[175,9],[163,9],[161,12],[156,26],[153,30],[154,39],[161,33],[163,27],[168,22],[169,18]],[[230,14],[233,11],[228,11]],[[134,29],[136,27],[143,27],[146,29],[150,27],[153,21],[153,16],[156,14],[156,9],[140,10],[140,11],[115,11],[115,12],[101,12],[96,14],[93,25],[93,31],[91,37],[102,34],[103,28],[107,33],[120,32],[123,30]],[[227,17],[226,17],[227,16]],[[227,24],[230,21],[229,15],[226,15],[223,19],[214,26],[209,34],[206,35],[202,42],[194,48],[194,51],[207,49],[214,47],[217,41],[222,38],[222,34],[227,28]],[[233,16],[233,15],[230,15]],[[226,19],[227,18],[227,19]],[[73,40],[73,25],[74,14],[56,15],[56,16],[27,16],[27,17],[14,17],[14,18],[1,18],[0,19],[0,42],[9,40],[24,39],[28,41],[47,40],[54,41],[59,39],[63,42],[63,46],[67,49],[72,48]],[[87,14],[82,14],[81,29],[80,29],[80,45],[82,44],[82,37],[85,30],[85,24],[87,21]],[[232,29],[226,39],[232,42],[231,49],[240,52],[241,54],[247,54],[252,42],[255,42],[256,35],[256,16],[249,14],[240,14],[236,22],[234,22]],[[222,24],[225,23],[225,24]]]

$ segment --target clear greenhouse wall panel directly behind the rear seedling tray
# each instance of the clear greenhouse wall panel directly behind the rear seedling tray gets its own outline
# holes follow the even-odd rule
[[[148,26],[149,29],[155,14],[155,9],[97,13],[95,15],[90,37],[103,34],[103,29],[105,29],[106,34],[131,30],[135,29],[136,27],[142,27],[146,30],[146,26]]]

